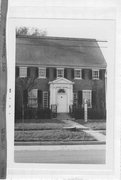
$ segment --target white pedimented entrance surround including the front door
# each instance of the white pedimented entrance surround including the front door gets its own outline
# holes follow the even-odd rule
[[[49,82],[50,107],[57,105],[57,113],[68,113],[69,106],[73,104],[73,84],[63,77]]]

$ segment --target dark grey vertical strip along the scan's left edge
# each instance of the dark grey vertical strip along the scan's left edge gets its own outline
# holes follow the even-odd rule
[[[6,17],[8,0],[0,0],[0,179],[6,179],[7,141],[6,141]]]

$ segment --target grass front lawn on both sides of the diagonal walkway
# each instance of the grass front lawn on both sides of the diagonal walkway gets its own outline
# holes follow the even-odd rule
[[[82,123],[81,120],[74,120],[93,130],[100,130],[100,133],[106,134],[105,121],[89,121]],[[61,120],[41,119],[40,123],[16,123],[15,124],[15,141],[38,141],[38,142],[78,142],[78,141],[96,141],[90,134],[81,129],[64,129],[68,126]],[[23,131],[24,128],[24,131]]]

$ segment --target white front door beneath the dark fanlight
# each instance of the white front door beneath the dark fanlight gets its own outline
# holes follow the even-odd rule
[[[67,103],[68,103],[67,94],[58,93],[58,95],[57,95],[57,112],[58,113],[68,112],[68,104]]]

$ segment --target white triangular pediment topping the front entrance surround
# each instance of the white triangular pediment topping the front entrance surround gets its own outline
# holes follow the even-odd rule
[[[61,77],[61,78],[57,78],[54,81],[50,81],[49,84],[74,84],[74,82],[69,81],[68,79]]]

